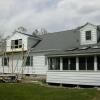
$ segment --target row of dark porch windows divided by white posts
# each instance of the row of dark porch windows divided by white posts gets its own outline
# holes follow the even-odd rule
[[[99,71],[99,56],[73,56],[73,57],[49,57],[48,70],[58,71]]]

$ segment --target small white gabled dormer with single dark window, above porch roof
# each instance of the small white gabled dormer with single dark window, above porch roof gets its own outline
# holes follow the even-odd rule
[[[99,40],[98,35],[97,26],[86,23],[80,27],[80,45],[96,44]]]

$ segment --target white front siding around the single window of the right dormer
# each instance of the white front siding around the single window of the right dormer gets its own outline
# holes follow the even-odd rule
[[[86,40],[86,31],[91,31],[91,40]],[[83,27],[80,30],[80,44],[86,45],[86,44],[95,44],[97,43],[97,28],[93,25],[87,24],[85,27]]]

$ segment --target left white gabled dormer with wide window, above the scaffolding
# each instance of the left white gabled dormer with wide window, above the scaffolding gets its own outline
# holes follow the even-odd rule
[[[6,40],[7,52],[27,51],[40,41],[39,37],[16,31]]]

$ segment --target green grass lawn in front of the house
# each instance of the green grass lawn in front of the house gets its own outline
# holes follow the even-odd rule
[[[100,91],[36,84],[0,84],[0,100],[100,100]]]

